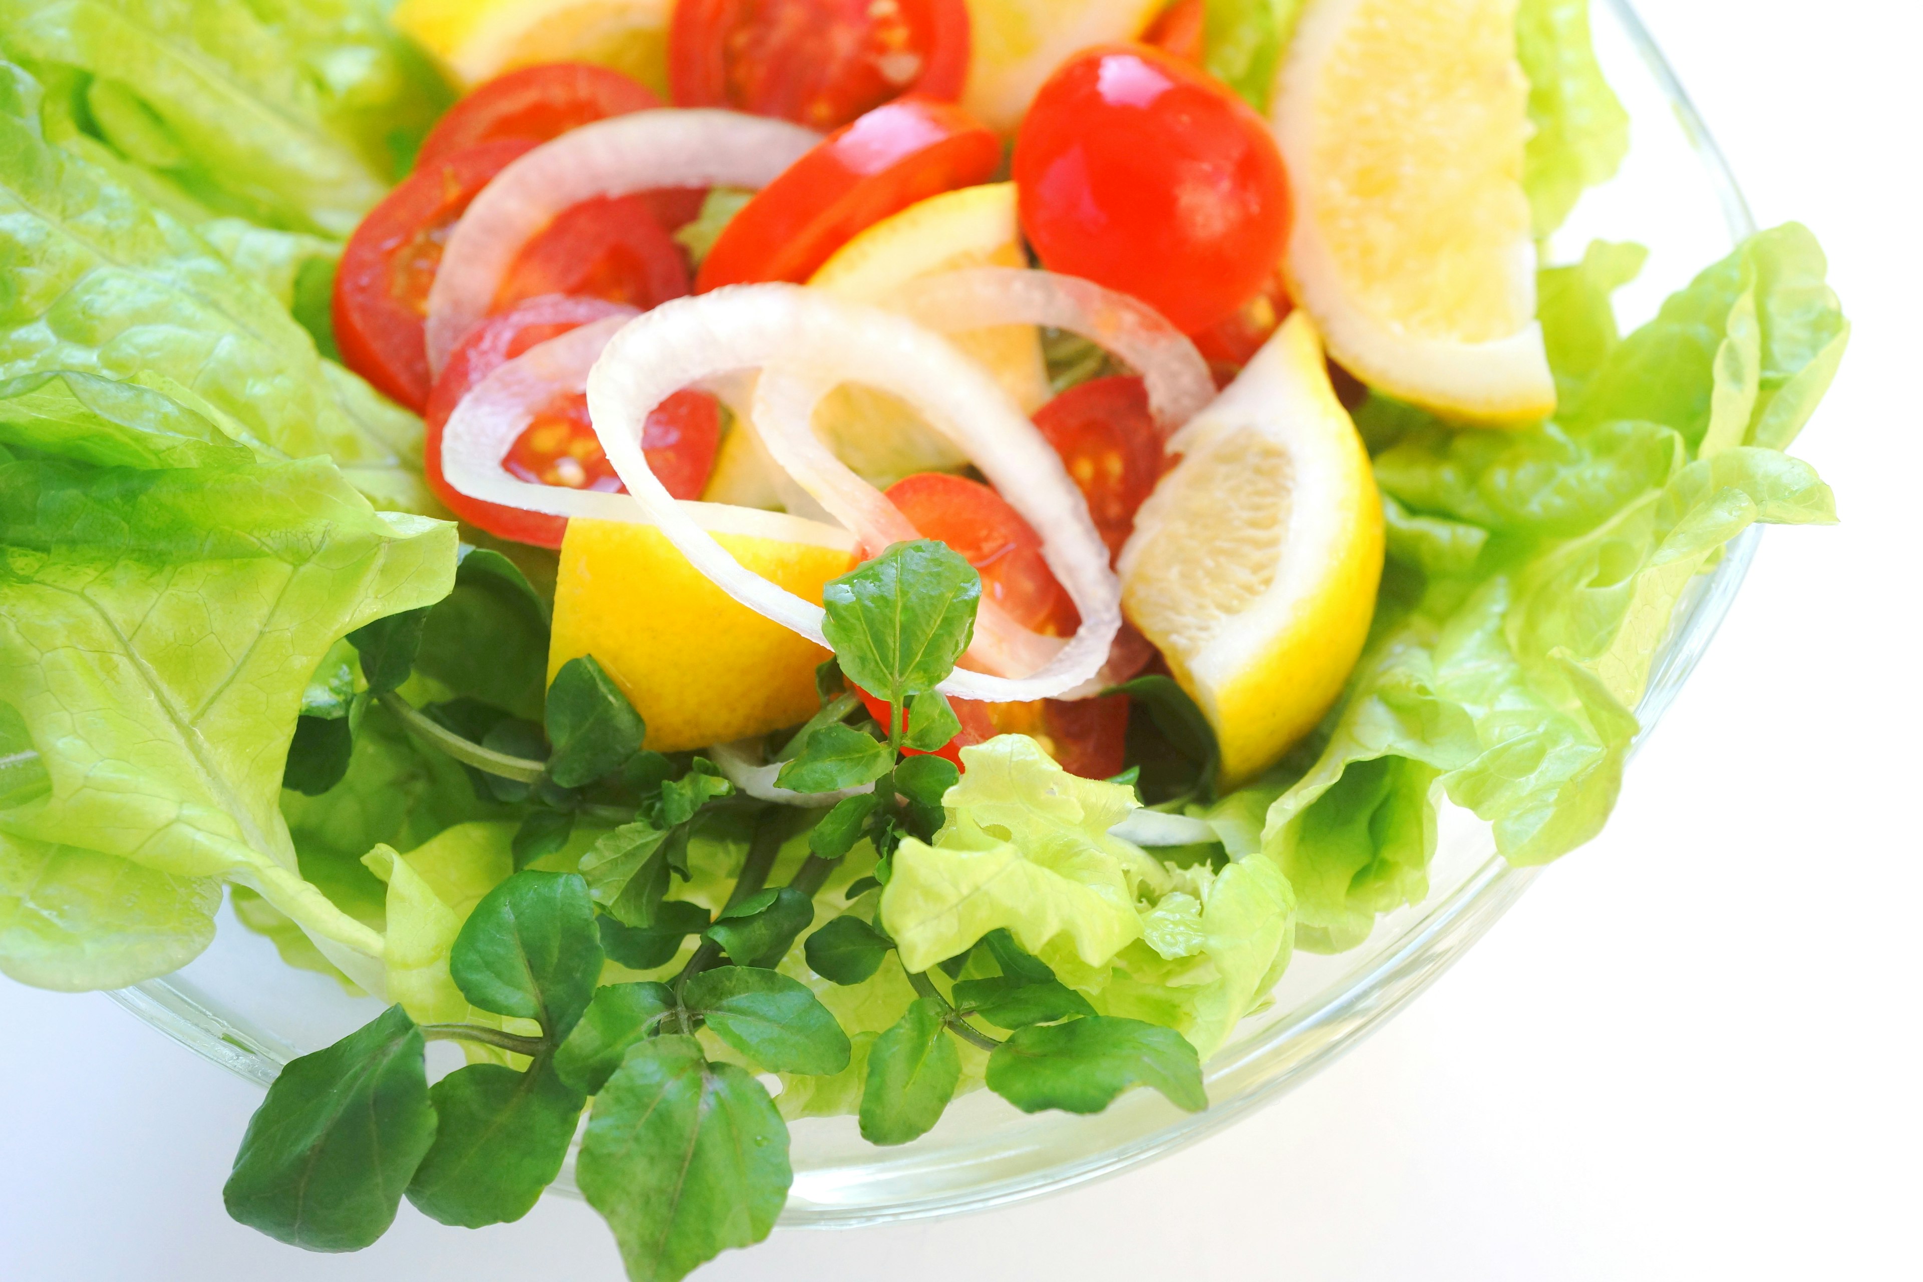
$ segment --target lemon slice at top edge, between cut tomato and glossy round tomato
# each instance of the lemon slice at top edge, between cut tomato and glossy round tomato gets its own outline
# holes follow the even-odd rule
[[[1090,44],[1133,40],[1161,8],[1163,0],[967,0],[962,106],[1011,135],[1061,60]]]

